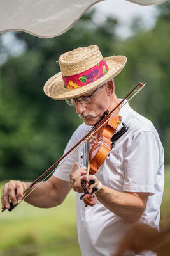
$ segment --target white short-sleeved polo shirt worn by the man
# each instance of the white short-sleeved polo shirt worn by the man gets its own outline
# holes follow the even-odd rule
[[[116,191],[150,193],[145,212],[139,221],[159,228],[160,204],[164,188],[164,150],[159,135],[150,120],[133,111],[129,104],[120,109],[128,131],[115,142],[104,163],[97,170],[96,177],[104,186]],[[118,130],[122,126],[119,125]],[[73,147],[89,129],[81,124],[67,144],[66,150]],[[117,131],[118,131],[117,130]],[[69,181],[69,173],[75,161],[82,164],[82,147],[66,160],[57,170],[55,177]],[[77,193],[78,241],[83,256],[111,256],[132,225],[97,202],[87,206]],[[142,255],[153,255],[145,252]]]

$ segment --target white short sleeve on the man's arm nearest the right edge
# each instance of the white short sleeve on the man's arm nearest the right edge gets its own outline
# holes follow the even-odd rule
[[[153,132],[134,134],[124,158],[124,191],[155,193],[155,179],[159,171],[161,143]]]

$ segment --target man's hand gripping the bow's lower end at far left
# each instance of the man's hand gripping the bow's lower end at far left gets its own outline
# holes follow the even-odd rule
[[[22,200],[28,186],[29,184],[17,180],[10,180],[6,183],[1,193],[2,209],[10,209],[10,200],[14,205],[18,203],[18,200]]]

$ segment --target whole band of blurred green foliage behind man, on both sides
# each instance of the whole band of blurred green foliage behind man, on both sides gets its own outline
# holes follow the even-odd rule
[[[92,44],[99,45],[103,56],[117,54],[128,58],[124,71],[115,77],[118,97],[124,97],[139,81],[146,83],[131,106],[155,124],[165,148],[166,163],[170,163],[169,3],[158,8],[160,16],[155,28],[143,31],[137,24],[135,35],[124,41],[115,35],[117,20],[108,18],[98,24],[92,12],[57,38],[16,33],[19,40],[26,42],[27,51],[11,56],[1,65],[1,180],[35,179],[62,155],[81,120],[74,107],[46,97],[43,84],[59,72],[56,61],[60,54]]]

